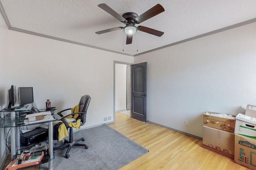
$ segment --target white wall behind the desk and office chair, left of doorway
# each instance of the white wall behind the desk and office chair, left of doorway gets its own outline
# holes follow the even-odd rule
[[[47,99],[58,110],[70,108],[89,94],[85,127],[113,116],[114,61],[133,63],[133,57],[10,31],[10,84],[32,86],[42,108]]]

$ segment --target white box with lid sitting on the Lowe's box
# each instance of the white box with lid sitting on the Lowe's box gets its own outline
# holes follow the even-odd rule
[[[256,118],[238,113],[235,134],[256,139]]]

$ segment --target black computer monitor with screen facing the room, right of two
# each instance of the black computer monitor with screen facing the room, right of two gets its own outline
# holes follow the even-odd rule
[[[32,87],[19,87],[20,106],[34,102]]]

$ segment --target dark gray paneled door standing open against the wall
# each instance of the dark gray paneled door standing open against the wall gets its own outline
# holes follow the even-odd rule
[[[147,62],[131,65],[131,117],[140,121],[147,121],[146,116],[146,71]]]

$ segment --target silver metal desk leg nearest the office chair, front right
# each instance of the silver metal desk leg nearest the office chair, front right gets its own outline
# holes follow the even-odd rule
[[[48,123],[48,144],[49,144],[49,170],[52,170],[52,165],[53,165],[53,126],[52,126],[52,121]]]

